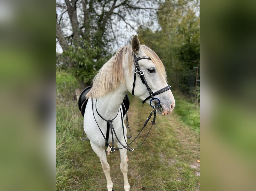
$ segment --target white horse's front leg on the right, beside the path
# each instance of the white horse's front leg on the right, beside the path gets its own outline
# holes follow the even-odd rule
[[[126,145],[125,141],[121,141],[123,145]],[[119,148],[122,148],[122,146],[117,143],[117,146]],[[123,149],[120,149],[120,158],[121,158],[121,162],[120,162],[120,169],[124,175],[124,190],[125,191],[129,191],[130,190],[130,184],[128,182],[128,176],[127,176],[127,172],[128,172],[128,164],[127,164],[127,161],[126,161],[126,158],[127,158],[127,150],[125,148]]]

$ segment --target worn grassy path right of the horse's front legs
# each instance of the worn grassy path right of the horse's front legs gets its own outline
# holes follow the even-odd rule
[[[151,107],[133,98],[130,108],[130,126],[135,135]],[[144,145],[137,153],[129,153],[131,163],[135,161],[133,165],[137,172],[143,172],[144,175],[137,181],[135,179],[136,188],[133,187],[133,190],[199,190],[199,134],[186,126],[180,118],[175,112],[166,117],[157,116],[156,125]],[[145,160],[141,161],[141,166],[136,165],[136,161],[143,158]],[[148,166],[143,168],[145,163]]]

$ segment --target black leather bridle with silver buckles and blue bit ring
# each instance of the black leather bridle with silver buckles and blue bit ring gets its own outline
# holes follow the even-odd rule
[[[148,93],[149,93],[149,96],[148,96],[146,99],[144,99],[144,100],[142,101],[142,103],[144,104],[148,99],[151,98],[151,100],[150,100],[150,106],[151,106],[151,107],[154,107],[154,106],[151,105],[151,101],[154,100],[154,99],[157,99],[157,98],[154,98],[154,96],[155,96],[155,95],[158,95],[158,94],[161,94],[161,93],[163,93],[163,92],[165,92],[165,91],[167,91],[167,90],[170,90],[170,89],[171,89],[171,86],[168,85],[168,86],[166,86],[166,87],[164,87],[164,88],[162,88],[162,89],[160,89],[160,90],[158,90],[158,91],[156,91],[156,92],[153,93],[153,91],[152,91],[152,90],[150,89],[150,87],[148,86],[147,81],[146,81],[146,79],[145,79],[145,77],[144,77],[144,72],[143,72],[143,70],[141,70],[140,65],[139,65],[139,63],[138,63],[138,61],[141,60],[141,59],[148,59],[148,60],[151,60],[151,58],[150,58],[150,57],[147,57],[147,56],[141,56],[141,57],[138,57],[138,58],[137,58],[135,54],[133,54],[133,57],[134,57],[135,63],[134,63],[134,70],[133,70],[133,72],[134,72],[134,79],[133,79],[132,95],[134,95],[136,74],[138,74],[139,77],[140,77],[140,79],[141,79],[141,81],[142,81],[142,83],[146,85],[147,90],[148,90]],[[158,100],[158,104],[157,104],[156,107],[159,107],[159,106],[160,106],[160,100],[159,100],[159,99],[157,99],[157,100]]]

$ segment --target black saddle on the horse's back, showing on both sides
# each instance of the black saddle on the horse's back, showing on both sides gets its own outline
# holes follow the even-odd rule
[[[86,99],[86,94],[91,90],[92,86],[86,87],[80,94],[79,99],[78,99],[78,108],[81,111],[81,114],[84,116],[85,115],[85,107],[88,102],[88,99]],[[130,101],[129,97],[127,94],[124,96],[124,100],[122,103],[122,110],[123,110],[123,116],[126,114],[126,111],[128,111],[130,106]]]

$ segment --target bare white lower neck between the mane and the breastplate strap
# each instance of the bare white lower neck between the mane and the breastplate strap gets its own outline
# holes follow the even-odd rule
[[[116,90],[97,99],[97,110],[106,120],[113,119],[119,110],[125,96],[125,89],[120,86]]]

